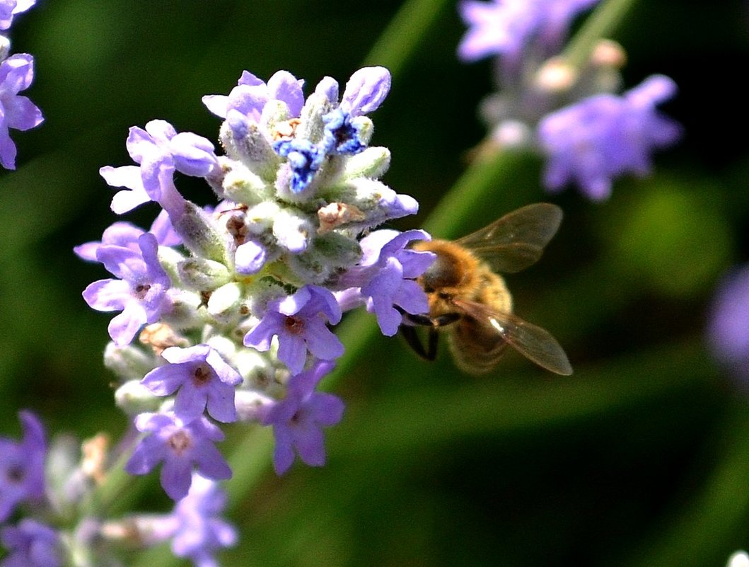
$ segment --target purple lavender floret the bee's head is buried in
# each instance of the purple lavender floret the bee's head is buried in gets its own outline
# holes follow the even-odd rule
[[[429,240],[423,230],[375,230],[361,241],[363,257],[342,278],[342,287],[360,287],[360,296],[367,311],[374,313],[383,335],[392,337],[403,319],[401,308],[410,314],[429,310],[426,294],[415,279],[434,262],[431,252],[406,248],[412,240]],[[346,293],[347,304],[354,303],[351,291]]]

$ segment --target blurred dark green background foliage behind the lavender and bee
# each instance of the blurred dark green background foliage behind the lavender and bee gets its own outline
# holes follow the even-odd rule
[[[489,62],[455,58],[455,4],[416,5],[426,11],[407,14],[373,61],[395,74],[373,115],[373,143],[393,156],[384,181],[422,203],[401,229],[421,226],[467,169],[483,135],[476,105],[491,89]],[[98,169],[131,163],[127,128],[164,118],[216,139],[219,121],[200,98],[228,93],[243,69],[343,84],[403,6],[40,0],[19,17],[13,51],[36,59],[25,94],[46,121],[13,130],[18,170],[0,173],[0,431],[17,436],[25,407],[53,433],[124,430],[101,362],[110,317],[80,295],[106,275],[71,248],[115,220]],[[435,235],[528,202],[560,204],[548,253],[508,283],[518,314],[558,338],[575,374],[553,377],[510,354],[475,379],[444,350],[430,365],[376,336],[372,318],[349,325],[335,386],[348,410],[328,430],[329,463],[276,478],[264,452],[240,458],[261,475],[249,492],[241,473],[229,483],[241,540],[222,565],[683,567],[724,565],[749,547],[749,403],[712,362],[703,330],[718,279],[749,260],[748,30],[745,2],[635,3],[613,34],[628,52],[626,85],[676,80],[664,110],[685,126],[682,142],[601,204],[575,190],[547,196],[540,160],[508,157],[481,173],[491,190],[448,214],[450,234]],[[192,179],[178,187],[212,202]],[[144,206],[128,219],[148,226],[154,214]],[[133,505],[166,510],[153,481]]]

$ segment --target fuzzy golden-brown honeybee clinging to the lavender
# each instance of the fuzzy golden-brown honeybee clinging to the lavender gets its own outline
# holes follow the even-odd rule
[[[428,315],[404,314],[401,334],[424,359],[437,355],[445,332],[455,364],[484,374],[499,362],[507,345],[556,374],[572,374],[554,337],[512,313],[512,296],[497,272],[514,273],[541,257],[562,222],[562,209],[549,203],[518,208],[455,241],[417,242],[413,248],[437,254],[416,281],[429,300]],[[425,348],[415,326],[428,327]]]

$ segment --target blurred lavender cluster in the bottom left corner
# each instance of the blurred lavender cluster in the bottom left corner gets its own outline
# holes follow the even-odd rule
[[[221,517],[225,493],[197,473],[187,496],[168,514],[106,521],[78,514],[77,504],[90,498],[106,475],[106,440],[97,436],[79,448],[71,437],[61,436],[50,445],[33,413],[23,411],[19,417],[22,440],[0,437],[1,567],[120,565],[115,547],[102,542],[169,540],[176,556],[210,567],[216,565],[213,553],[236,541],[234,526]],[[66,559],[73,557],[73,562]]]

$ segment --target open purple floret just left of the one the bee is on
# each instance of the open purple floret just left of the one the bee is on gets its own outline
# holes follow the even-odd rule
[[[308,350],[322,360],[343,354],[343,345],[327,328],[326,320],[333,325],[341,320],[336,298],[324,287],[307,285],[292,296],[270,302],[260,323],[244,336],[244,345],[266,351],[273,336],[277,336],[279,360],[292,374],[298,374],[304,368]]]

